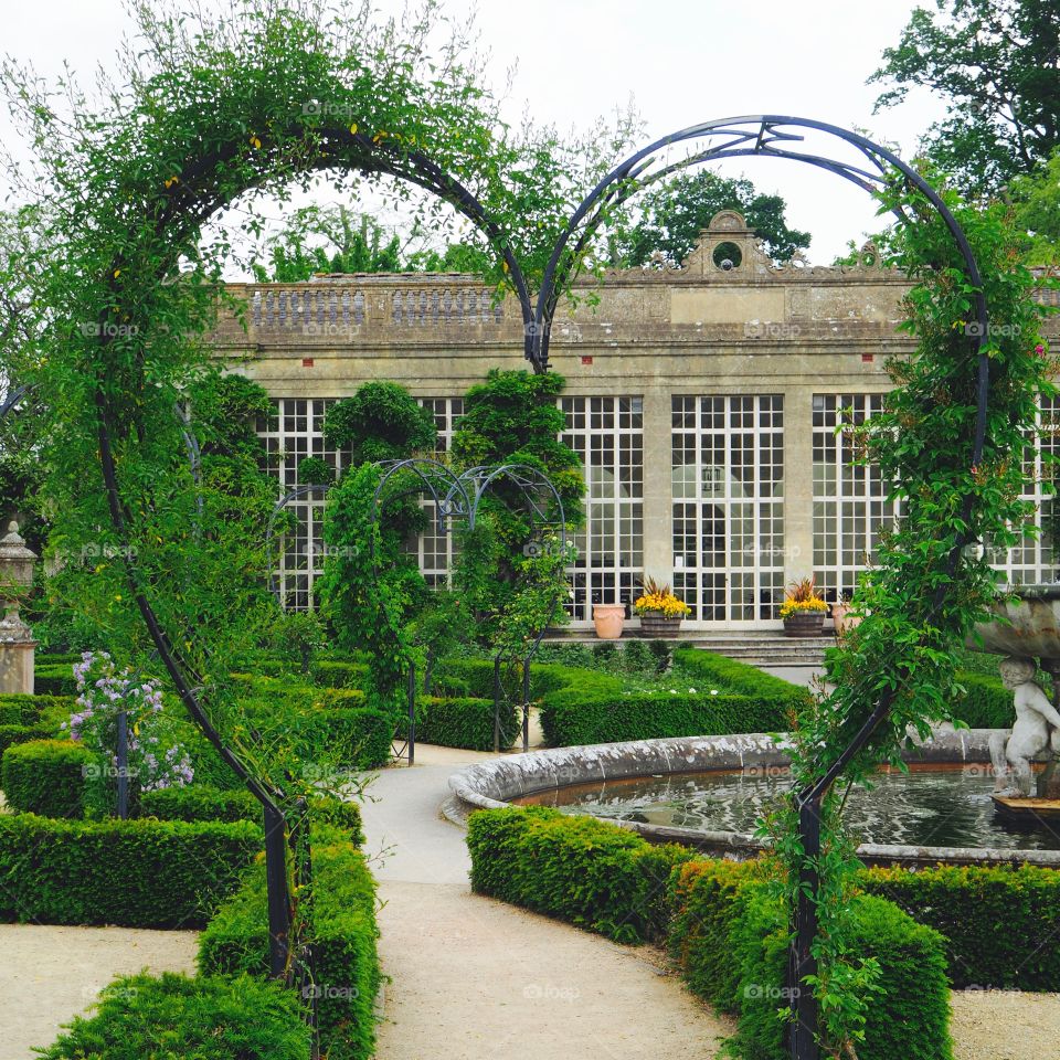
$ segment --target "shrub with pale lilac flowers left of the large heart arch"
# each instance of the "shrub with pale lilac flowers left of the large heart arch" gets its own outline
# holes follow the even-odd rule
[[[70,738],[98,751],[117,776],[118,714],[128,723],[127,774],[141,792],[190,784],[194,778],[184,749],[165,745],[161,733],[162,690],[156,680],[139,680],[130,670],[118,672],[106,651],[85,651],[74,664],[77,681],[76,710],[63,722]]]

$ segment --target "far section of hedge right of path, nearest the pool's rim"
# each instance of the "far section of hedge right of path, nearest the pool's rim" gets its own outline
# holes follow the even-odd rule
[[[634,831],[543,806],[471,814],[471,890],[617,942],[661,937],[667,882],[692,857]]]

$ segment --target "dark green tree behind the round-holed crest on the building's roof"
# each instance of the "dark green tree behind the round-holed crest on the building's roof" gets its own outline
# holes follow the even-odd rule
[[[709,170],[679,173],[637,200],[638,219],[615,225],[608,247],[612,265],[632,268],[659,261],[679,265],[699,242],[700,232],[720,210],[738,210],[754,229],[771,257],[786,262],[809,246],[809,233],[789,229],[780,195],[760,194],[746,179]]]

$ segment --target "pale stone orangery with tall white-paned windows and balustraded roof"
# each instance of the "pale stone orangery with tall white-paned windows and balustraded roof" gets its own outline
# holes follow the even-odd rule
[[[644,574],[672,582],[692,607],[687,625],[703,630],[778,627],[797,576],[815,574],[831,598],[854,589],[891,512],[879,476],[851,466],[834,428],[842,409],[879,409],[888,357],[911,350],[895,331],[907,289],[871,246],[852,266],[776,267],[723,211],[682,267],[611,273],[595,308],[561,308],[551,361],[587,486],[575,625],[589,625],[593,602],[628,602]],[[246,329],[224,321],[216,347],[273,395],[261,430],[286,486],[308,455],[341,469],[324,415],[367,380],[407,386],[444,445],[471,384],[526,367],[518,305],[495,305],[474,277],[324,276],[234,293]],[[1056,339],[1056,319],[1047,328]],[[1041,499],[1034,475],[1028,489]],[[279,577],[295,606],[310,603],[322,565],[322,505],[299,502],[287,542]],[[428,577],[444,574],[449,548],[421,542]],[[1014,581],[1053,576],[1034,541],[996,561]]]

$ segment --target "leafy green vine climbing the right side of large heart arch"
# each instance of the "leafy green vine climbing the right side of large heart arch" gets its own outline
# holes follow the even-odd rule
[[[794,720],[793,789],[813,788],[863,727],[875,728],[825,794],[819,856],[803,848],[796,806],[765,827],[788,908],[807,897],[807,880],[816,882],[808,897],[818,915],[812,947],[817,968],[803,986],[817,995],[822,1043],[830,1057],[856,1056],[879,972],[850,942],[858,862],[842,827],[847,793],[871,785],[881,765],[901,768],[910,731],[925,738],[933,723],[953,720],[955,650],[976,622],[989,617],[998,592],[999,575],[974,544],[1004,549],[1032,527],[1032,505],[1021,499],[1024,457],[1037,442],[1039,400],[1056,393],[1050,374],[1058,365],[1039,335],[1042,310],[1031,297],[1037,280],[1019,263],[1003,210],[972,209],[952,193],[946,201],[975,254],[989,309],[983,454],[973,462],[976,290],[942,220],[894,186],[884,204],[911,211],[914,222],[899,225],[893,264],[914,285],[902,329],[915,337],[916,350],[888,365],[895,389],[883,414],[849,430],[860,459],[894,484],[902,518],[859,583],[854,607],[860,624],[829,656],[834,690]]]

